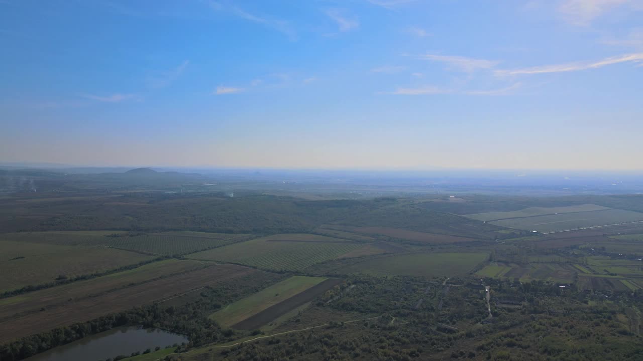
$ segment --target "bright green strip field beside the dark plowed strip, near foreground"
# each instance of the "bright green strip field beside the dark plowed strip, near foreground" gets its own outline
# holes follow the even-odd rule
[[[248,317],[266,310],[266,308],[273,304],[289,299],[293,295],[299,294],[300,292],[303,292],[324,280],[325,278],[323,277],[290,277],[289,279],[285,279],[284,281],[269,286],[268,288],[264,288],[264,290],[261,290],[256,294],[229,304],[222,310],[212,313],[212,315],[210,315],[210,319],[219,322],[222,326],[232,326],[237,322],[244,321]]]

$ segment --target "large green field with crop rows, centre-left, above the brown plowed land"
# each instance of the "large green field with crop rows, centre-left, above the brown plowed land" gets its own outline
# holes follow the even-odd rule
[[[312,240],[316,242],[311,242]],[[240,263],[269,270],[294,271],[303,270],[322,261],[334,260],[363,246],[363,243],[314,234],[277,234],[189,254],[188,258]]]

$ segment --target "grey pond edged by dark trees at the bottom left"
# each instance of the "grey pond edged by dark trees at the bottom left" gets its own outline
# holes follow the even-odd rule
[[[115,328],[69,344],[58,346],[38,355],[27,358],[27,361],[98,361],[114,358],[118,355],[131,355],[133,352],[160,346],[170,346],[188,342],[183,335],[158,329],[145,329],[140,326]]]

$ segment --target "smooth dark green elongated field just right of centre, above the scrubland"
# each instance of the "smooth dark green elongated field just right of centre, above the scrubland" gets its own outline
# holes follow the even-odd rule
[[[338,269],[341,273],[373,276],[456,276],[464,274],[484,261],[484,252],[412,253],[370,258]]]

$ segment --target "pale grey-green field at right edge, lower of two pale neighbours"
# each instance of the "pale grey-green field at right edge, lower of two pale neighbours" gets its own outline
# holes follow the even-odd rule
[[[538,231],[541,233],[566,231],[597,225],[638,222],[643,220],[643,213],[624,211],[622,209],[607,209],[605,211],[559,213],[557,215],[531,216],[512,218],[489,222],[507,228]]]

